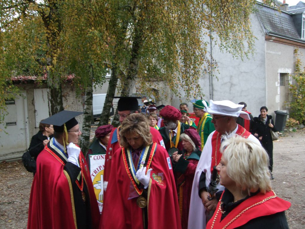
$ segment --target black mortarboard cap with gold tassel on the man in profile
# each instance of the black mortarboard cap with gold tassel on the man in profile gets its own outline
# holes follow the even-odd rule
[[[75,117],[83,113],[84,112],[79,111],[60,111],[57,114],[42,120],[41,123],[53,125],[55,132],[62,133],[64,132],[63,124],[66,124],[67,130],[71,129],[78,124]]]

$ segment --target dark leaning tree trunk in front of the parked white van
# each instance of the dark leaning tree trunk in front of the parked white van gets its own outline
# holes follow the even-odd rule
[[[117,88],[117,80],[118,80],[118,76],[117,76],[117,66],[114,65],[111,68],[111,76],[109,79],[109,86],[108,86],[108,90],[107,90],[107,95],[105,98],[105,103],[104,103],[104,107],[103,107],[103,111],[101,114],[101,118],[99,120],[99,126],[100,125],[107,125],[108,121],[109,121],[109,113],[110,113],[110,109],[112,107],[112,101],[113,101],[113,96],[115,94],[115,90]],[[117,111],[115,112],[114,117],[116,117]],[[115,120],[113,120],[114,123],[112,125],[114,125],[115,127],[117,127],[118,125],[120,125],[120,123],[116,123]]]

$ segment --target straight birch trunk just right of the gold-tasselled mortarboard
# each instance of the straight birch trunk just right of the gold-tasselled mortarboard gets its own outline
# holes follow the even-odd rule
[[[84,106],[84,122],[81,134],[80,147],[84,156],[86,156],[89,145],[90,145],[90,131],[91,131],[91,117],[92,117],[92,94],[93,94],[93,67],[90,66],[89,70],[89,79],[91,81],[91,85],[86,88],[85,92],[85,106]]]

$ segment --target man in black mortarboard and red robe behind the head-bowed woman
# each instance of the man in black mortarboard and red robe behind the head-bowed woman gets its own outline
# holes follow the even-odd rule
[[[133,113],[139,113],[139,105],[138,100],[141,99],[141,97],[113,97],[113,98],[119,98],[118,104],[117,104],[117,110],[118,115],[120,116],[120,123],[124,121],[124,119]],[[110,169],[111,169],[111,159],[113,157],[113,153],[119,149],[120,146],[120,128],[114,128],[112,129],[109,137],[109,142],[107,145],[106,150],[106,157],[105,157],[105,167],[104,167],[104,191],[107,190],[107,184],[109,181],[109,175],[110,175]],[[160,135],[159,131],[155,128],[150,127],[150,133],[152,134],[152,141],[156,142],[160,145],[162,145],[164,148],[164,143],[162,136]],[[106,194],[105,194],[106,198]]]

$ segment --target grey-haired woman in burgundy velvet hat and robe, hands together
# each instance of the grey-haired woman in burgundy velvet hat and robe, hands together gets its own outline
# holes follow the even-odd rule
[[[201,155],[200,136],[194,129],[186,129],[180,136],[183,150],[174,152],[173,167],[178,192],[181,224],[183,229],[188,228],[188,211],[190,206],[192,184],[196,167]]]

